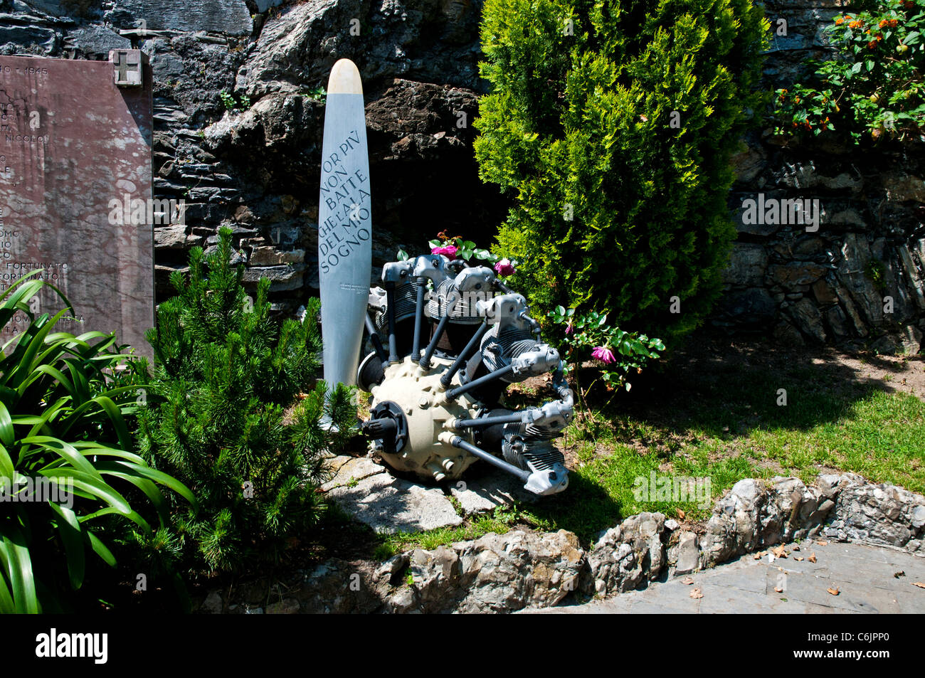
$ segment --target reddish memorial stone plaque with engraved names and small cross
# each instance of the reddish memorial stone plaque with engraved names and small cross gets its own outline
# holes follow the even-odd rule
[[[57,329],[115,331],[148,356],[154,223],[182,220],[176,202],[151,199],[151,104],[138,50],[109,61],[0,56],[0,291],[43,269],[75,311]],[[63,307],[44,290],[37,310]],[[27,321],[17,314],[2,339]]]

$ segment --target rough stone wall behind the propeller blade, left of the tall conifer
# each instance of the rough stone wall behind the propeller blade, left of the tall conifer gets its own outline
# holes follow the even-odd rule
[[[228,226],[245,281],[269,277],[292,312],[317,294],[317,92],[341,57],[364,78],[380,265],[443,228],[487,240],[506,213],[472,153],[480,16],[480,0],[0,0],[0,54],[150,55],[154,196],[187,203],[185,224],[155,228],[158,298],[189,249]]]

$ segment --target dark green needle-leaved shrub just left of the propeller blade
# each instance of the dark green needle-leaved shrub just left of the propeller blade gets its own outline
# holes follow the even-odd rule
[[[250,298],[232,254],[223,228],[216,252],[192,250],[189,279],[171,278],[178,295],[160,304],[148,335],[156,367],[140,426],[142,453],[200,502],[199,512],[175,507],[184,564],[222,571],[276,553],[314,524],[322,453],[342,444],[356,417],[342,385],[329,391],[321,382],[300,400],[318,366],[317,300],[302,323],[280,326],[269,280]],[[326,413],[333,426],[321,423]]]

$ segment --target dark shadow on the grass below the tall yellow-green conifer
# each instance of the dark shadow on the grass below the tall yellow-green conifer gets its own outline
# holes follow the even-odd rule
[[[898,374],[901,363],[878,356],[862,360],[849,364],[836,351],[743,345],[700,333],[669,361],[633,379],[629,393],[611,398],[595,390],[589,401],[601,408],[618,439],[643,446],[664,442],[653,436],[692,432],[732,439],[759,427],[808,430],[838,421],[878,391],[895,390],[871,373]],[[910,361],[922,364],[920,357]]]

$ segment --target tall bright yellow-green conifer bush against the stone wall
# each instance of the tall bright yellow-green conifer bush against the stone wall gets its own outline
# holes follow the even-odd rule
[[[520,262],[512,287],[542,313],[696,327],[734,238],[729,158],[768,29],[750,0],[487,0],[475,155],[516,199],[495,248]]]

